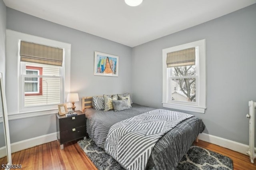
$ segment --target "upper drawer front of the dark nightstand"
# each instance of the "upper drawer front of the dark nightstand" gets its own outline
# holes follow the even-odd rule
[[[60,131],[69,130],[74,127],[80,127],[86,125],[85,115],[77,115],[73,117],[66,117],[65,119],[60,119]]]

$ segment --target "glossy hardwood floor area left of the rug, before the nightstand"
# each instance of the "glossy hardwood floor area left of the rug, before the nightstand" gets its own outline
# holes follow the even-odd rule
[[[22,170],[97,170],[76,141],[64,144],[63,150],[56,140],[15,152],[12,164],[21,164]]]

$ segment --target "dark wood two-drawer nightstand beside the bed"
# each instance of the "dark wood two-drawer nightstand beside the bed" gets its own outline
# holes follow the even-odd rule
[[[60,142],[60,149],[64,149],[64,143],[86,138],[86,117],[81,111],[75,111],[77,115],[66,117],[56,114],[57,138]]]

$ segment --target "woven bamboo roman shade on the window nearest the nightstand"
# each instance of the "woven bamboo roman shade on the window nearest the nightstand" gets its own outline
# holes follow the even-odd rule
[[[63,49],[21,41],[20,61],[62,66]]]

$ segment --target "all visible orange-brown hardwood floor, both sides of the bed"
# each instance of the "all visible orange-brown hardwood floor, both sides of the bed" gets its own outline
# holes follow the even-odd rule
[[[250,163],[249,157],[199,140],[194,145],[218,152],[230,157],[234,163],[234,170],[256,170],[256,160]],[[0,164],[5,162],[0,159]],[[35,146],[12,154],[12,164],[21,164],[23,170],[97,170],[84,151],[74,142],[64,144],[60,150],[58,141]]]

